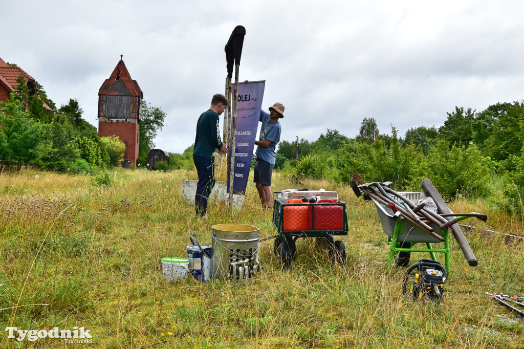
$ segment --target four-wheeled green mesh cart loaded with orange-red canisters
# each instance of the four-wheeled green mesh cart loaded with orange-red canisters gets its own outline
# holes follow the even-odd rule
[[[341,265],[346,261],[346,249],[334,236],[347,235],[346,203],[323,199],[315,203],[300,200],[280,201],[274,199],[273,225],[275,235],[274,253],[283,269],[291,267],[296,257],[298,238],[315,237],[316,245],[327,245],[332,260]]]

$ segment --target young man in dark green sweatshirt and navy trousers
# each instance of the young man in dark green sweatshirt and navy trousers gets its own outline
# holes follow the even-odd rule
[[[211,106],[207,112],[200,115],[196,123],[196,137],[193,148],[193,162],[196,173],[198,173],[198,184],[196,184],[195,212],[198,217],[206,217],[208,209],[208,198],[211,189],[215,185],[215,157],[216,149],[222,154],[229,151],[220,139],[219,115],[224,112],[228,105],[226,97],[215,94],[211,100]]]

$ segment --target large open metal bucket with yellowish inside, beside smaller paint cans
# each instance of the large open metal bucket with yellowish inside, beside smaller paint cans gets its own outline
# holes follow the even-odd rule
[[[212,278],[247,286],[258,265],[259,229],[247,224],[216,224],[212,227]]]

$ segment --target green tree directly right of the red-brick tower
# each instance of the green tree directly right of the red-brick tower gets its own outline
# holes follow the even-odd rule
[[[153,139],[157,132],[164,126],[164,120],[167,113],[159,107],[154,107],[145,100],[142,103],[142,118],[140,121],[140,144],[138,150],[138,160],[140,165],[145,166],[147,163],[147,154],[149,150],[155,147]]]

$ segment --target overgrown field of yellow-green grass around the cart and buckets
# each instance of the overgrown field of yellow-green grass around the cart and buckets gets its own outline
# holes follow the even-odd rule
[[[282,271],[270,240],[260,243],[265,269],[249,287],[192,278],[167,283],[160,259],[183,257],[190,235],[211,244],[213,224],[244,223],[271,236],[272,212],[261,208],[249,183],[240,213],[214,202],[209,219],[197,220],[180,192],[181,180],[194,174],[110,174],[107,188],[94,186],[91,176],[0,175],[3,328],[83,326],[93,337],[84,345],[107,348],[524,347],[522,318],[484,295],[524,295],[522,243],[466,232],[479,260],[473,268],[452,239],[444,302],[413,301],[401,294],[403,269],[386,270],[388,245],[374,206],[356,200],[346,185],[306,181],[300,188],[336,190],[347,202],[345,267],[333,265],[313,239],[299,239],[293,267]],[[274,190],[290,187],[274,174]],[[519,217],[483,201],[450,207],[488,214],[487,223],[464,224],[522,234]],[[411,261],[420,258],[427,255]],[[49,338],[18,342],[2,332],[1,347],[64,346]]]

